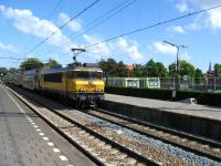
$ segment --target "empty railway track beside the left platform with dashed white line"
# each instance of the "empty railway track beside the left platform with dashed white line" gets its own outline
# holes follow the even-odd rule
[[[39,114],[55,131],[83,151],[97,165],[161,165],[160,163],[122,146],[69,116],[49,108],[38,100],[23,98],[15,92],[11,92]],[[21,91],[19,92],[21,93]]]

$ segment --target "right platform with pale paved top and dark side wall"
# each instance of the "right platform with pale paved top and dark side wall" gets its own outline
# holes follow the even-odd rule
[[[221,108],[105,94],[103,108],[152,124],[221,141]]]

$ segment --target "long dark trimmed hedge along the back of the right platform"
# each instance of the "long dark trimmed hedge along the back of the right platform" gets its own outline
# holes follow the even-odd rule
[[[133,89],[133,87],[116,87],[106,86],[106,93],[137,96],[145,98],[156,98],[172,101],[172,90],[156,90],[156,89]],[[194,91],[178,91],[177,100],[185,100],[194,97],[199,104],[221,106],[221,93],[207,93],[207,92],[194,92]]]

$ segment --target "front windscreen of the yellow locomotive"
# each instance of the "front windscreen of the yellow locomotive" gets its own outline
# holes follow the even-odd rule
[[[70,74],[70,79],[101,80],[102,72],[73,71]]]

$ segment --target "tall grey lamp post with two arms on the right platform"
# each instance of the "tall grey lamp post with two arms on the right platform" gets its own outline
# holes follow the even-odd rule
[[[187,45],[178,45],[178,44],[175,44],[175,43],[171,43],[171,42],[168,42],[168,41],[164,41],[165,43],[171,45],[171,46],[175,46],[177,49],[177,62],[176,62],[176,75],[177,75],[177,84],[175,86],[175,94],[172,94],[172,97],[177,97],[177,90],[178,90],[178,84],[179,84],[179,70],[180,70],[180,66],[179,66],[179,51],[180,51],[180,48],[182,49],[186,49],[188,48]]]

